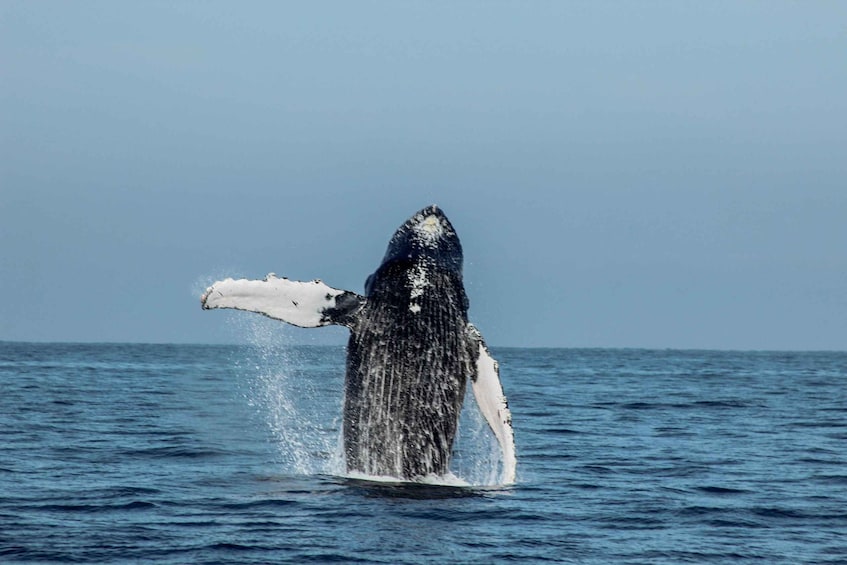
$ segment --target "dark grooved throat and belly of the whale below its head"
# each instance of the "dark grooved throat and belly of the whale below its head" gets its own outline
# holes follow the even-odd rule
[[[461,281],[433,270],[374,293],[351,328],[344,445],[347,467],[369,475],[447,472],[476,353]],[[437,292],[426,292],[430,287]],[[410,308],[410,299],[414,308]]]

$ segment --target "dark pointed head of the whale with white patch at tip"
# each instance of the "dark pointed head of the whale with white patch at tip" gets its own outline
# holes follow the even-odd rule
[[[365,283],[365,294],[371,294],[381,273],[407,268],[438,270],[461,284],[462,263],[462,244],[456,230],[438,206],[428,206],[394,232],[382,264]]]

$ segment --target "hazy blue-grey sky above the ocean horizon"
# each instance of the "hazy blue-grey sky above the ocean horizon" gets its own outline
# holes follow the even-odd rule
[[[435,203],[490,345],[847,350],[845,53],[842,2],[0,0],[0,340],[343,343],[199,296],[362,292]]]

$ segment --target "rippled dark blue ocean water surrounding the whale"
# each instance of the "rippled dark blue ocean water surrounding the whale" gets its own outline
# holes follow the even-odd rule
[[[847,562],[847,353],[494,354],[510,488],[343,477],[343,348],[0,343],[0,561]]]

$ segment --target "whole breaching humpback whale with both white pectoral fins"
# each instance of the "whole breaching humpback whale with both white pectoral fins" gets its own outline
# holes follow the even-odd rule
[[[515,481],[511,414],[497,362],[468,322],[462,246],[437,206],[391,238],[364,296],[320,280],[218,281],[204,309],[257,312],[295,326],[349,328],[343,438],[348,472],[416,480],[448,471],[468,379]]]

